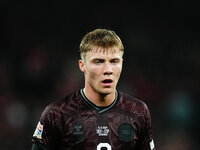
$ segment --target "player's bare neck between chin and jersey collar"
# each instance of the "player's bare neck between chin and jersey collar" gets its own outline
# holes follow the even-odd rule
[[[101,94],[94,90],[84,88],[83,92],[85,96],[96,106],[109,106],[115,100],[115,90],[110,94]]]

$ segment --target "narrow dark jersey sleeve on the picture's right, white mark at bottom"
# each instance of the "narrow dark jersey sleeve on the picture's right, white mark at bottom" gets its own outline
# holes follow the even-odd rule
[[[141,125],[140,140],[136,145],[137,150],[156,150],[153,137],[152,137],[152,126],[151,126],[151,116],[149,109],[146,104],[144,104],[144,118]]]

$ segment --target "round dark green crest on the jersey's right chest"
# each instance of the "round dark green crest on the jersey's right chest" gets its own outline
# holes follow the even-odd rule
[[[133,126],[129,123],[122,123],[118,128],[118,135],[121,141],[130,142],[134,136]]]

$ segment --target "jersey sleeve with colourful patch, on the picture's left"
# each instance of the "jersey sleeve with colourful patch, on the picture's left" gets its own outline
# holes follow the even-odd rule
[[[54,149],[60,142],[60,116],[52,106],[48,106],[40,117],[32,142]]]

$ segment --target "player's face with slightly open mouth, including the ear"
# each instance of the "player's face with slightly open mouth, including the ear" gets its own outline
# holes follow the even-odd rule
[[[86,53],[85,61],[79,61],[85,74],[85,88],[103,95],[115,92],[122,71],[122,55],[117,48],[107,51],[94,48]]]

